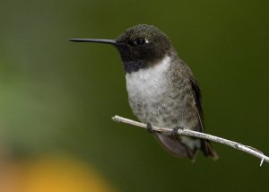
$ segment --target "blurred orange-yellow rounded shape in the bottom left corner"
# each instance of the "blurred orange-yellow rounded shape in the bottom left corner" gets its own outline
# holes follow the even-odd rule
[[[26,161],[10,165],[9,170],[4,183],[0,181],[4,192],[114,191],[89,164],[66,157],[49,156]]]

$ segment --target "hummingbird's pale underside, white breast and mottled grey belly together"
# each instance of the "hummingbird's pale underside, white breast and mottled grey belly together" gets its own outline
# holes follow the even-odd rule
[[[197,125],[193,98],[173,86],[168,78],[169,62],[163,61],[148,69],[126,74],[126,89],[134,115],[143,123],[159,127],[184,127]],[[181,83],[178,81],[178,83]],[[191,106],[191,107],[189,107]],[[194,122],[194,120],[196,122]]]

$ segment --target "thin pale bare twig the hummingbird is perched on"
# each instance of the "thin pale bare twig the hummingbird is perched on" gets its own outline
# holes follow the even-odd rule
[[[112,119],[116,122],[126,123],[129,125],[135,126],[135,127],[142,127],[142,128],[147,127],[146,124],[143,124],[143,123],[140,123],[140,122],[128,119],[128,118],[122,118],[119,116],[115,116]],[[157,132],[172,133],[172,129],[170,129],[170,128],[152,126],[152,129],[154,131],[157,131]],[[226,145],[233,147],[239,151],[243,151],[245,153],[249,153],[249,154],[252,154],[253,156],[256,156],[257,158],[259,158],[261,160],[260,166],[262,166],[264,161],[269,162],[269,157],[265,156],[264,153],[258,151],[256,148],[253,148],[251,146],[247,146],[244,144],[239,144],[237,142],[233,142],[233,141],[230,141],[228,139],[221,138],[219,136],[208,135],[208,134],[204,134],[201,132],[192,131],[189,129],[178,129],[178,135],[194,136],[197,138],[207,139],[207,140],[210,140],[210,141],[213,141],[216,143],[226,144]]]

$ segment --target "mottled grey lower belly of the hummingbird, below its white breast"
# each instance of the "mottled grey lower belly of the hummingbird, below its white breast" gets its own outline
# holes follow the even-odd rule
[[[163,88],[163,87],[162,87]],[[195,127],[197,122],[187,118],[190,111],[184,102],[179,98],[171,98],[170,91],[161,88],[134,89],[128,90],[129,104],[134,115],[143,123],[151,123],[158,127]],[[180,97],[180,94],[178,95]]]

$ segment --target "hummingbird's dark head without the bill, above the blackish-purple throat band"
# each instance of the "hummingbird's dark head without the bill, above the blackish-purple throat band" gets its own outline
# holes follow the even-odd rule
[[[153,25],[139,24],[127,29],[116,42],[124,62],[154,62],[165,56],[171,48],[169,38]]]

